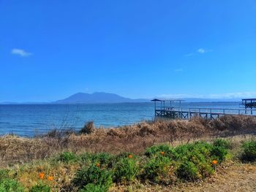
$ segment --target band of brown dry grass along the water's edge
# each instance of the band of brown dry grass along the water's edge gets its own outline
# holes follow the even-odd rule
[[[177,145],[197,139],[246,134],[256,134],[256,118],[224,116],[217,120],[156,120],[120,128],[97,128],[90,134],[55,130],[32,139],[4,136],[0,137],[0,166],[47,158],[63,150],[140,154],[146,147],[157,143]]]

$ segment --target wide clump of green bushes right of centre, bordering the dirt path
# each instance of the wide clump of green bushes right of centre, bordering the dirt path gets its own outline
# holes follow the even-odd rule
[[[144,168],[145,178],[154,183],[169,184],[176,179],[194,181],[210,176],[215,166],[212,161],[219,164],[227,150],[207,142],[195,142],[174,149],[164,145],[153,146],[146,154],[151,155],[151,160]]]

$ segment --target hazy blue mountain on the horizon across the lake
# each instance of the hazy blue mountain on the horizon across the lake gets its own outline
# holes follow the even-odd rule
[[[129,99],[118,96],[114,93],[75,93],[66,99],[55,101],[55,104],[88,104],[88,103],[132,103],[132,102],[148,102],[148,99]]]

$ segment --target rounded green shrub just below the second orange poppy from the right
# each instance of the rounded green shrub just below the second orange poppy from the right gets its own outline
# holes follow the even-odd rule
[[[151,158],[143,167],[141,175],[143,180],[151,180],[154,183],[170,184],[175,180],[175,166],[170,158],[157,156]]]

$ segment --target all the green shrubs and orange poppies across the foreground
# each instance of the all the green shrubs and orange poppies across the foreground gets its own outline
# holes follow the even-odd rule
[[[121,153],[60,153],[56,158],[0,169],[0,191],[110,191],[116,184],[171,185],[203,180],[227,158],[230,143],[194,142],[171,147],[154,145],[144,155]],[[256,160],[256,142],[244,142],[242,158]]]

